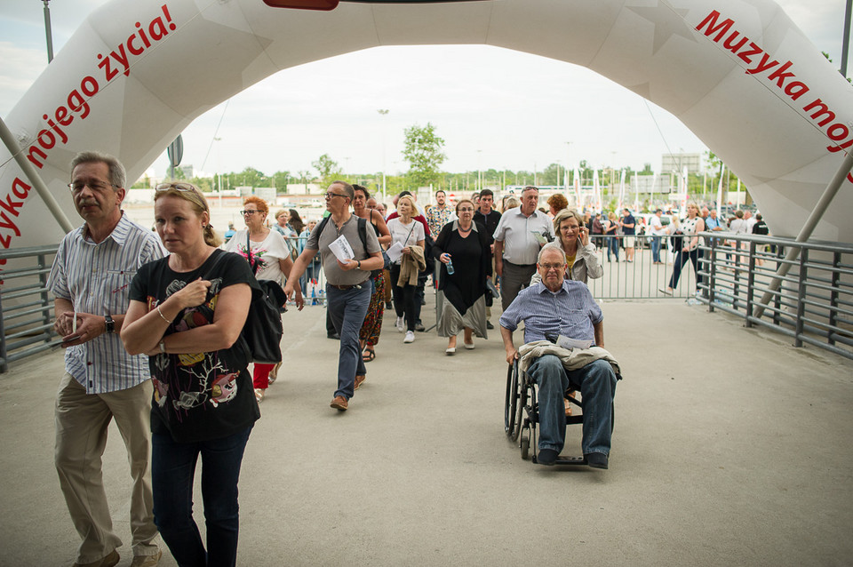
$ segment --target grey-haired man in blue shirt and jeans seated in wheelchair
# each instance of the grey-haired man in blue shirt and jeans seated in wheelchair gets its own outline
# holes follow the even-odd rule
[[[546,333],[559,333],[578,341],[594,341],[596,347],[604,346],[604,316],[595,303],[586,284],[565,279],[567,269],[565,252],[559,246],[548,244],[539,251],[537,270],[541,283],[533,284],[519,292],[512,304],[500,317],[500,334],[504,339],[506,362],[518,358],[514,347],[513,331],[524,322],[524,342],[546,340]],[[523,347],[522,347],[523,349]],[[610,355],[599,357],[581,354],[582,363],[574,370],[566,370],[561,356],[546,354],[534,358],[527,369],[528,376],[538,385],[538,457],[543,465],[554,465],[566,438],[566,417],[563,395],[567,389],[578,387],[584,404],[584,435],[581,446],[590,467],[607,468],[610,453],[610,434],[613,430],[613,396],[616,394],[617,375]],[[593,348],[592,351],[606,351]],[[568,351],[567,351],[568,352]],[[575,366],[578,366],[576,363]]]

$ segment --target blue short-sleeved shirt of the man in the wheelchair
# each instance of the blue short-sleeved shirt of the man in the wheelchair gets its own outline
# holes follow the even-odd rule
[[[510,331],[524,322],[524,342],[546,340],[545,333],[570,339],[595,340],[594,324],[604,320],[602,308],[583,282],[563,280],[554,293],[545,284],[533,284],[518,292],[503,315],[500,326]]]

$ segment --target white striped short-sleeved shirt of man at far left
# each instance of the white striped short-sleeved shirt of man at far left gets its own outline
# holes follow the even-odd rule
[[[68,233],[56,252],[47,287],[54,297],[71,301],[78,313],[123,315],[136,270],[160,258],[163,247],[155,233],[122,214],[112,234],[100,244],[84,235],[84,227]],[[68,347],[65,370],[87,394],[124,390],[150,378],[148,357],[128,355],[118,333]]]

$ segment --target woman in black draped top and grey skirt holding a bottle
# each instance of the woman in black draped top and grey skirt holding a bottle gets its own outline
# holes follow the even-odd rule
[[[474,348],[473,335],[486,334],[487,278],[491,277],[491,236],[474,222],[474,203],[456,205],[458,220],[444,225],[435,239],[433,254],[442,262],[438,289],[444,294],[438,334],[447,337],[447,355],[456,353],[456,336],[464,331],[464,345]],[[452,273],[450,273],[452,272]]]

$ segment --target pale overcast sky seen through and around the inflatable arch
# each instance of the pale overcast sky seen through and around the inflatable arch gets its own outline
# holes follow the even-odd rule
[[[54,52],[106,2],[52,0]],[[818,50],[841,64],[844,0],[778,4]],[[0,116],[8,116],[47,65],[43,8],[38,0],[2,0]],[[332,84],[347,85],[346,96]],[[387,116],[379,108],[388,109]],[[383,166],[389,174],[405,172],[403,129],[427,122],[446,141],[447,172],[541,171],[580,159],[596,167],[650,163],[658,170],[663,153],[707,149],[666,110],[586,68],[485,45],[406,46],[349,53],[268,77],[187,128],[183,164],[208,174],[246,166],[295,173],[313,170],[311,162],[328,153],[345,173]],[[167,165],[163,154],[155,174]]]

